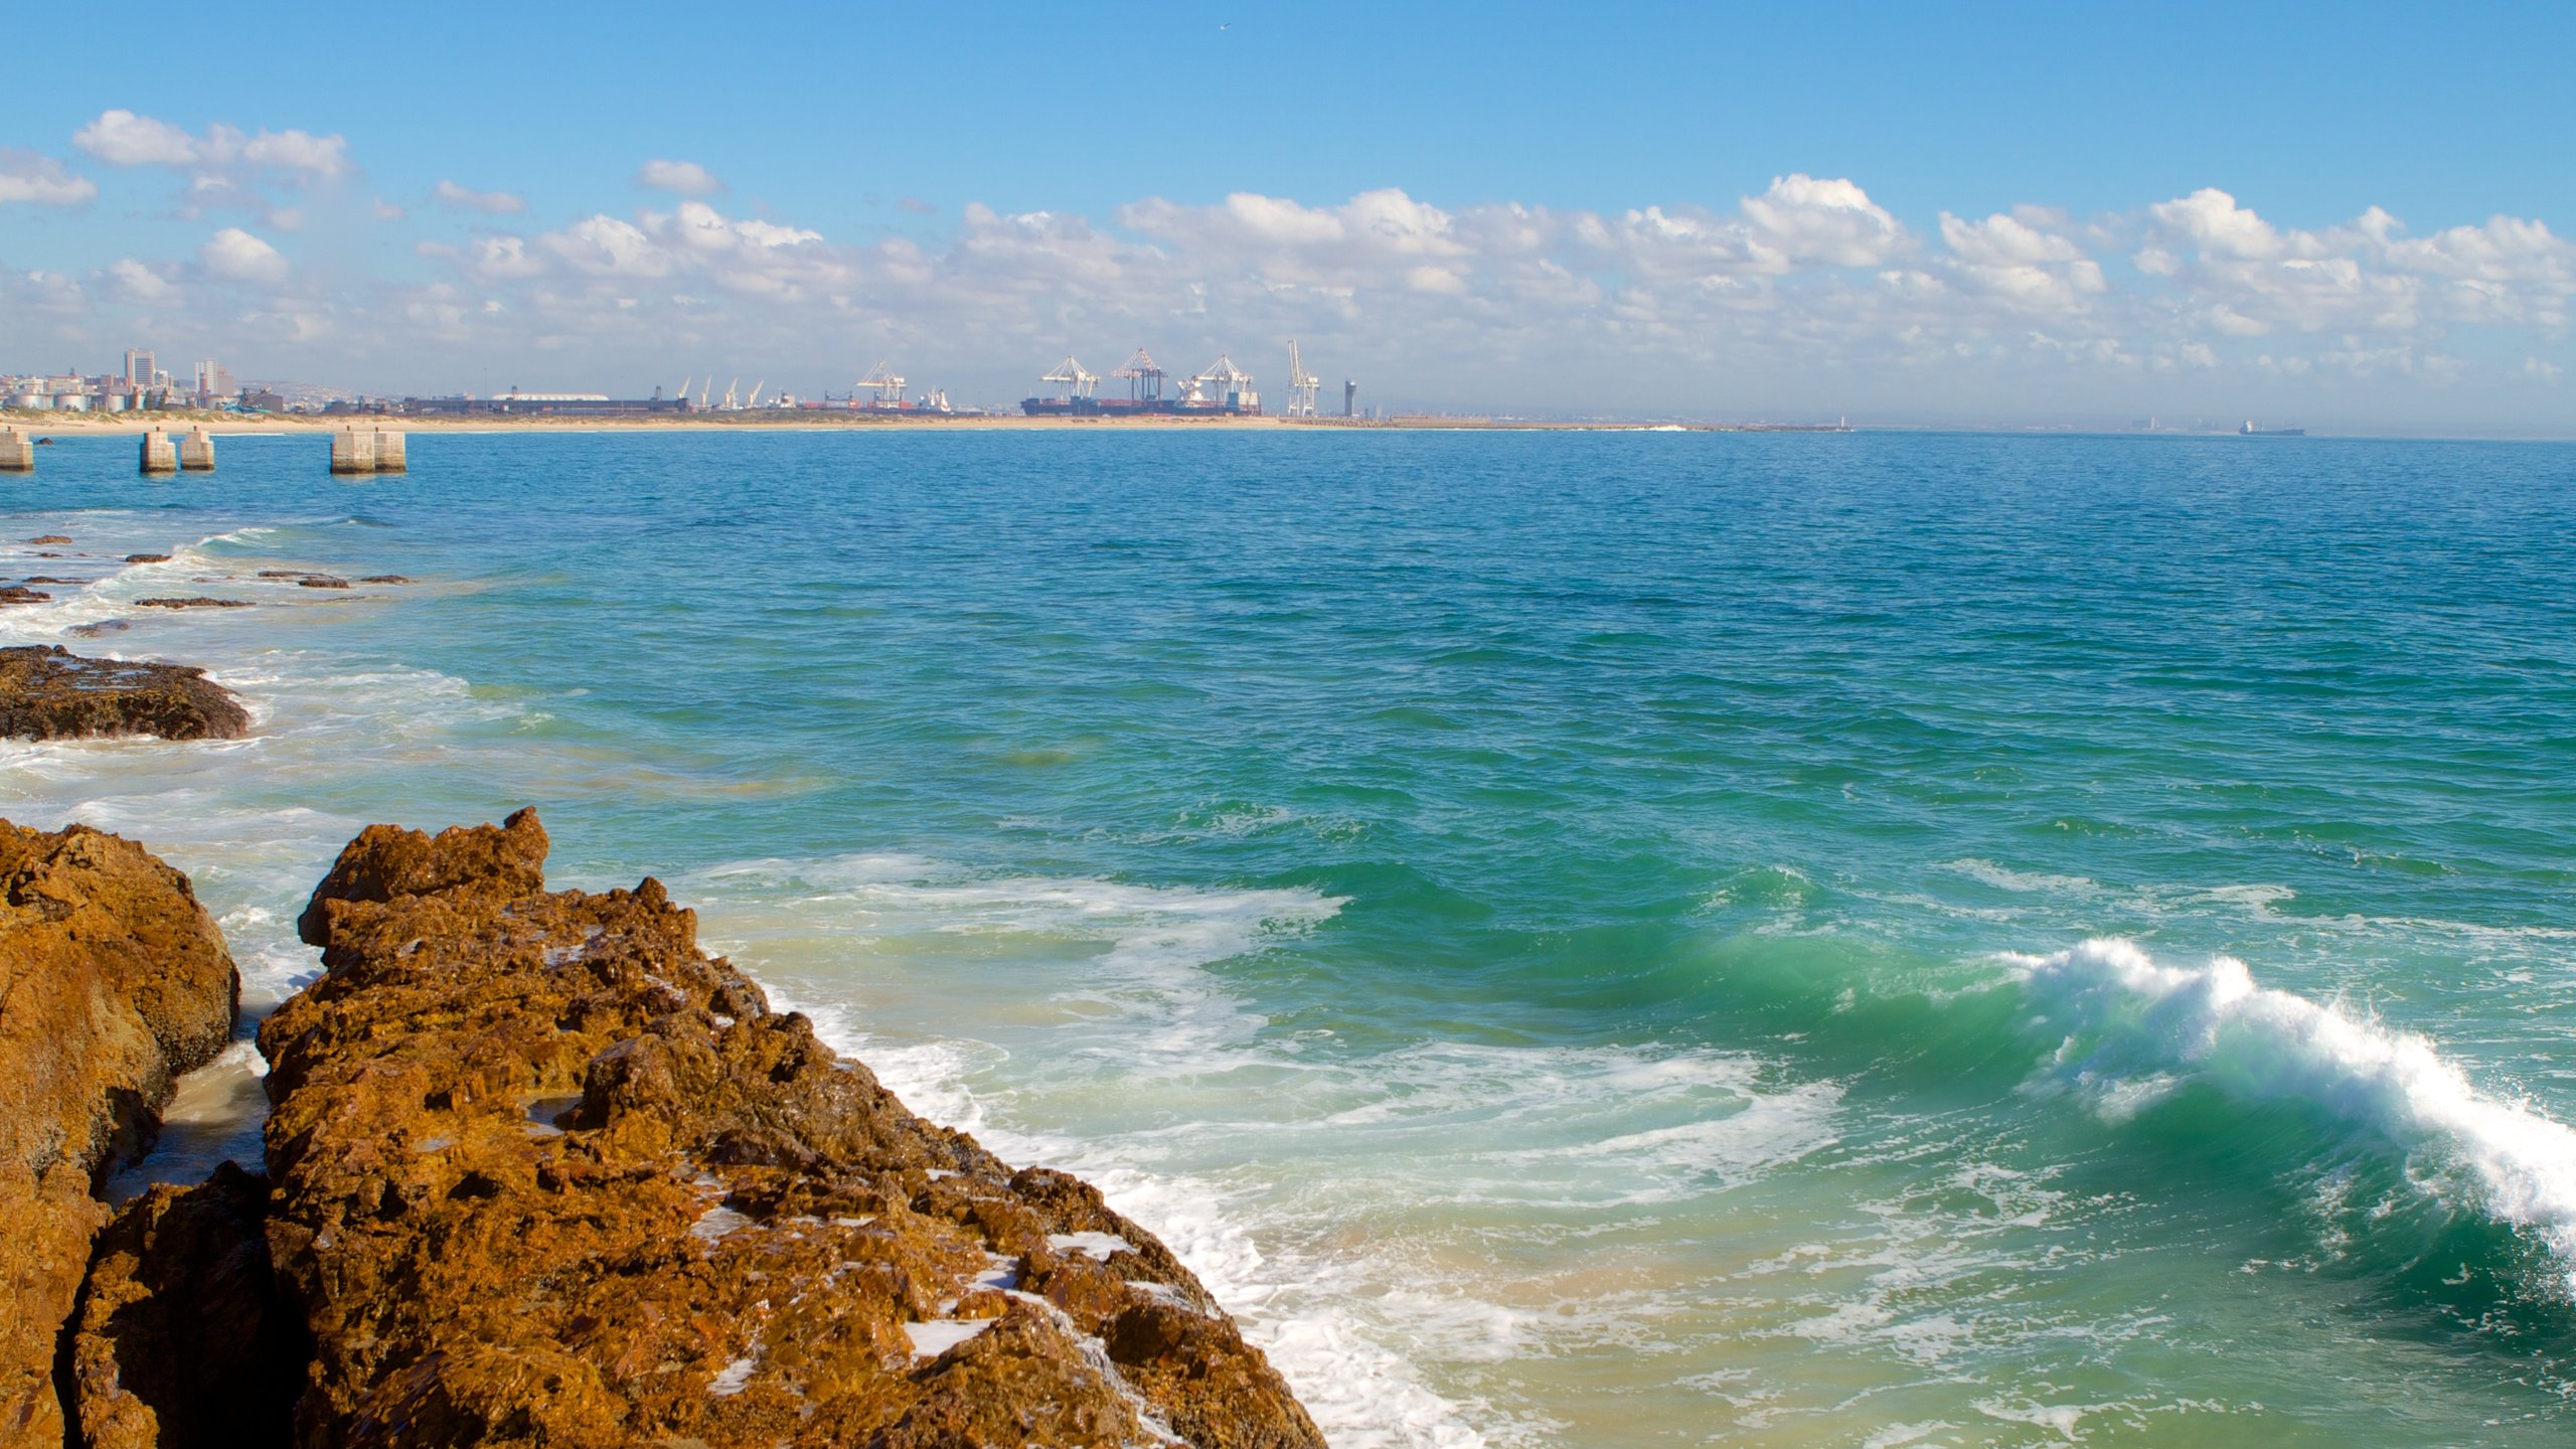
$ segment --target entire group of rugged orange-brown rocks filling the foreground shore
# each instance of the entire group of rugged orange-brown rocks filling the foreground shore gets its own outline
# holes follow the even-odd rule
[[[185,877],[0,825],[0,1444],[1319,1446],[1079,1178],[909,1114],[533,812],[374,825],[260,1026],[263,1171],[121,1212],[237,977]],[[39,1085],[52,1093],[39,1098]]]

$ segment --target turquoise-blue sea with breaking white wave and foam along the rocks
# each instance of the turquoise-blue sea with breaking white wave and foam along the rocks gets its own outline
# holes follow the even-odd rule
[[[2576,449],[39,467],[0,567],[93,583],[0,634],[214,665],[258,737],[13,745],[10,817],[165,851],[276,1000],[358,825],[533,802],[556,882],[659,874],[917,1109],[1108,1186],[1345,1449],[2571,1428]]]

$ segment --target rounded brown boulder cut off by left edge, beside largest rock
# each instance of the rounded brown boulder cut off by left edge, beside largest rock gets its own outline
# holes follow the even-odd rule
[[[98,1178],[232,1036],[240,977],[188,877],[85,825],[0,820],[0,1441],[59,1444],[57,1330]]]

